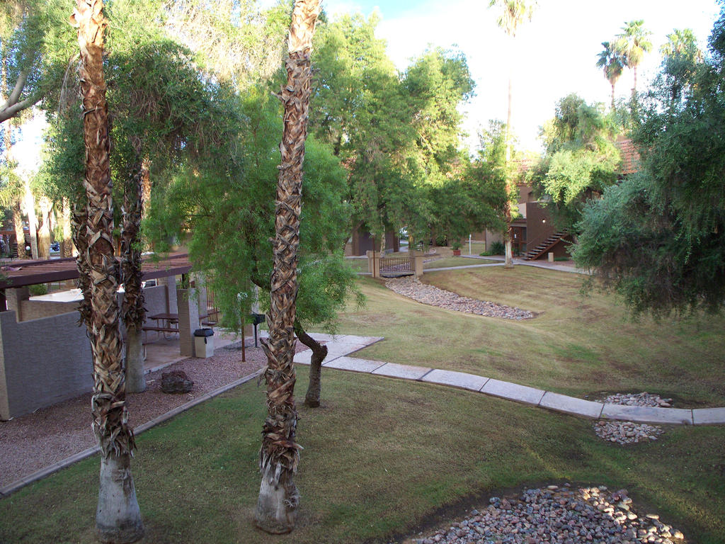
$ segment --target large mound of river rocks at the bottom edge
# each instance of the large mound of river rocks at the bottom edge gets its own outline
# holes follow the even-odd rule
[[[483,511],[415,544],[679,544],[681,531],[658,514],[637,514],[627,490],[604,486],[550,485],[525,490],[518,499],[492,497]]]

